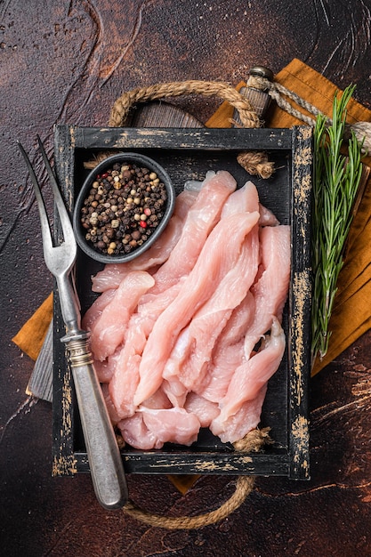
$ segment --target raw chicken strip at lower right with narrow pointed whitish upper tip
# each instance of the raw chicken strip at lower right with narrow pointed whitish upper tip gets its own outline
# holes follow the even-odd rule
[[[243,362],[235,371],[227,394],[220,403],[221,413],[210,425],[214,435],[225,439],[230,416],[237,414],[246,400],[254,400],[268,382],[283,358],[286,347],[285,333],[276,317],[272,319],[270,335],[262,341],[262,347],[252,358]],[[237,439],[228,440],[233,442]]]

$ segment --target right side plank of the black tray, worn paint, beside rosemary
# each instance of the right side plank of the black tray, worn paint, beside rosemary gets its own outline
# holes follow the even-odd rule
[[[290,477],[309,479],[308,390],[311,370],[311,164],[312,128],[293,131],[293,214],[290,292]]]

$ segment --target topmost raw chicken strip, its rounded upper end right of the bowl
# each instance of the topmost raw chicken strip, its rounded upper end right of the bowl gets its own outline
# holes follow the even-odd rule
[[[233,176],[224,170],[206,177],[183,223],[181,238],[155,274],[156,285],[152,292],[162,292],[190,272],[208,234],[219,221],[222,206],[236,186]]]

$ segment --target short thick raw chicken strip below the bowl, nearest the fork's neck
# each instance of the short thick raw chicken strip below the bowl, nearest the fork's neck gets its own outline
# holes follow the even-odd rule
[[[141,295],[154,283],[153,277],[145,270],[133,270],[124,278],[109,304],[93,323],[91,349],[94,359],[103,361],[116,351],[124,340],[127,324]]]

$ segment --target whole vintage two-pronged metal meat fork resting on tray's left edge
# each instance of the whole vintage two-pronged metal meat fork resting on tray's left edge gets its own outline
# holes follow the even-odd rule
[[[77,243],[69,214],[52,173],[52,167],[46,157],[43,143],[38,136],[37,140],[60,216],[64,238],[60,246],[53,246],[52,244],[52,234],[44,206],[44,198],[36,174],[25,149],[20,143],[18,145],[25,158],[36,193],[43,237],[44,260],[57,280],[60,309],[66,325],[66,335],[60,341],[66,344],[69,353],[69,363],[77,392],[78,408],[95,494],[104,508],[117,509],[125,505],[128,498],[125,472],[115,433],[103,400],[101,386],[93,368],[93,359],[88,348],[89,333],[83,331],[80,327],[79,303],[70,278],[70,272],[77,256]]]

